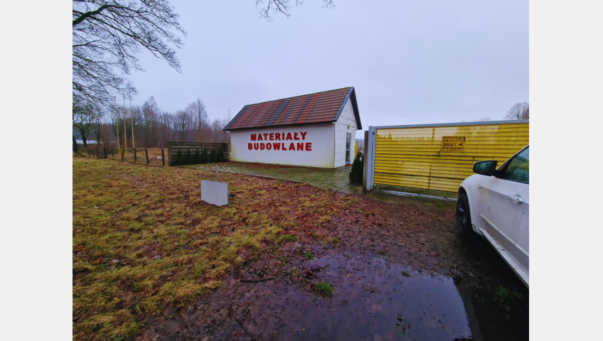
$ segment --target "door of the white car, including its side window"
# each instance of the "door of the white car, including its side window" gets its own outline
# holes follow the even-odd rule
[[[485,232],[528,269],[529,147],[484,177],[479,186],[479,218]]]

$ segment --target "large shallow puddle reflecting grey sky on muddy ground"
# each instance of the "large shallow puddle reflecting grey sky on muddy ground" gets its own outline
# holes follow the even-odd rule
[[[299,319],[301,340],[478,340],[452,278],[408,271],[383,259],[325,256],[309,265],[335,286]],[[362,265],[359,265],[362,264]],[[470,304],[470,303],[469,303]],[[478,331],[479,332],[479,331]]]

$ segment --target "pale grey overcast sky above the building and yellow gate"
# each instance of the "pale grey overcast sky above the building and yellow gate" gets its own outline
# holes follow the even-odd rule
[[[293,1],[294,2],[294,1]],[[320,0],[260,18],[254,0],[171,0],[182,73],[148,53],[129,77],[167,112],[210,119],[245,104],[355,87],[368,126],[503,119],[528,98],[528,1]],[[358,133],[357,137],[363,134]]]

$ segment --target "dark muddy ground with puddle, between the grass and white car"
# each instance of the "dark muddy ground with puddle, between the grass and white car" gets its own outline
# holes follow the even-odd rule
[[[217,291],[145,315],[136,340],[528,340],[528,290],[457,234],[454,202],[358,196],[354,213],[248,251]]]

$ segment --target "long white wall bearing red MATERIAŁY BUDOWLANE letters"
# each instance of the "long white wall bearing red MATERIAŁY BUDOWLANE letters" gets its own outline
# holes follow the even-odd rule
[[[351,106],[350,106],[351,108]],[[343,116],[343,113],[341,114]],[[353,117],[353,114],[352,114]],[[333,157],[335,156],[335,129],[336,124],[310,124],[303,126],[281,126],[262,129],[244,129],[230,131],[230,159],[240,162],[257,162],[257,163],[274,163],[279,165],[294,165],[294,166],[310,166],[333,168]],[[347,129],[347,124],[346,124]],[[304,139],[301,138],[301,132],[306,133]],[[279,134],[280,139],[277,140],[276,134]],[[282,136],[287,136],[287,133],[297,133],[299,140],[284,140]],[[262,134],[262,140],[256,139],[252,141],[252,134]],[[264,135],[268,134],[265,141]],[[274,134],[270,136],[270,134]],[[272,139],[271,139],[272,137]],[[288,150],[290,144],[293,143],[295,150]],[[304,150],[298,151],[297,144],[304,144]],[[343,135],[343,157],[345,157],[346,136]],[[252,149],[249,149],[249,144],[252,144]],[[264,149],[255,149],[255,144],[260,147],[264,144]],[[267,144],[271,148],[267,148]],[[283,144],[286,151],[274,150],[274,144],[278,144],[282,148]],[[307,151],[306,144],[310,144],[311,151]]]

